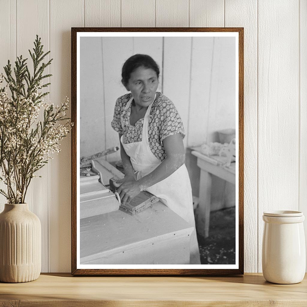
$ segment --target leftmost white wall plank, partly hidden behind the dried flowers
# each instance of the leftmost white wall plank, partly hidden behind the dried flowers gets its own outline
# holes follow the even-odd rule
[[[0,9],[0,73],[5,75],[3,67],[10,60],[14,65],[16,60],[16,9],[15,0],[4,0],[1,2]],[[10,90],[8,90],[10,94]],[[0,182],[0,188],[6,191],[6,185]],[[0,194],[0,212],[4,209],[4,204],[7,203],[6,197]]]

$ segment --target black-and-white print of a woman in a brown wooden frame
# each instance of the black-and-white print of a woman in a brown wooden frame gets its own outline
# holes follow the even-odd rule
[[[243,28],[72,28],[72,274],[243,274]]]

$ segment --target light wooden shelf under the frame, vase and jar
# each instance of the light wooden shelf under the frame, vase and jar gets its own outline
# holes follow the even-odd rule
[[[33,282],[0,283],[0,306],[306,306],[307,275],[294,285],[262,274],[191,277],[92,277],[45,273]]]

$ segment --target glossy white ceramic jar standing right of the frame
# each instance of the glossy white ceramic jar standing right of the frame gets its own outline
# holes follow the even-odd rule
[[[300,211],[266,211],[262,216],[262,272],[268,282],[296,284],[305,275],[306,251]]]

